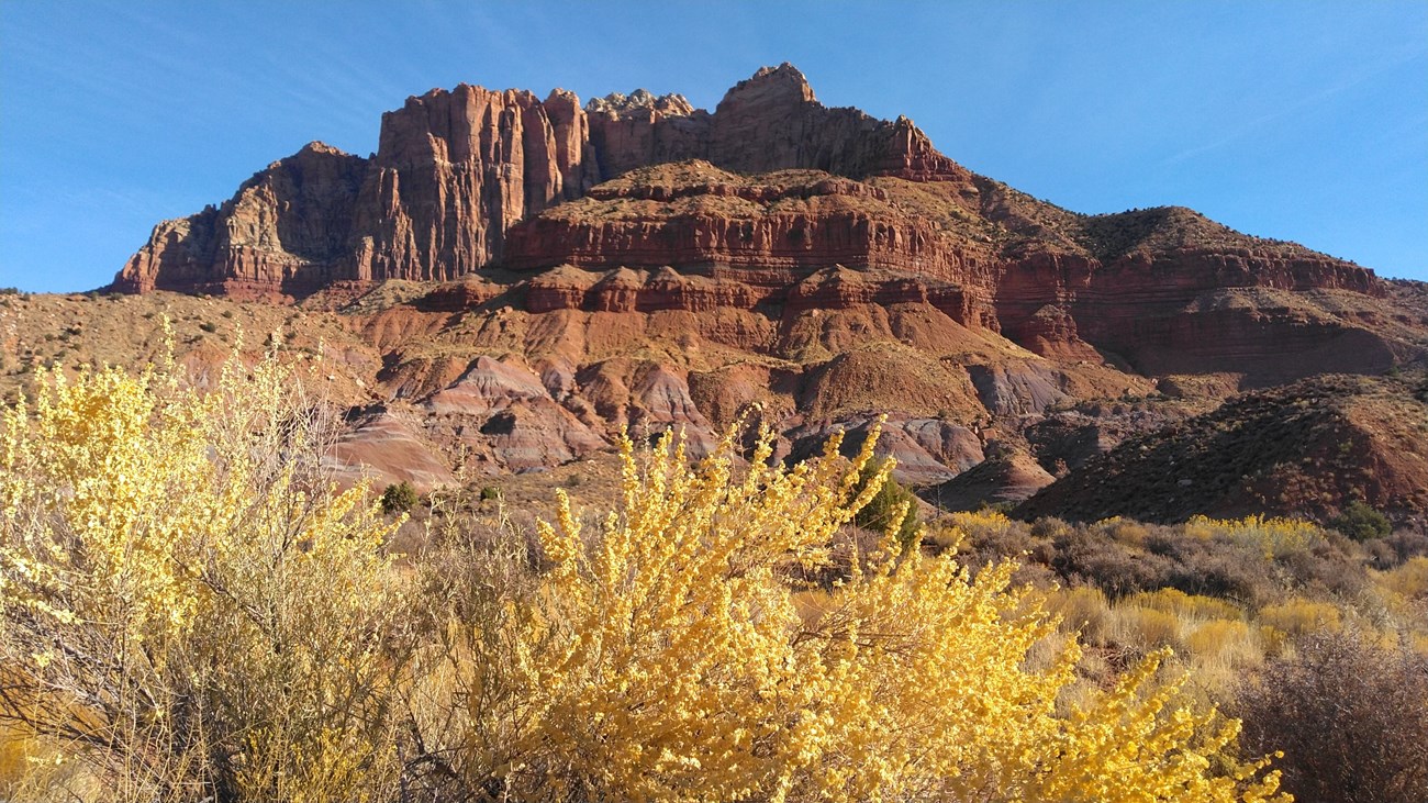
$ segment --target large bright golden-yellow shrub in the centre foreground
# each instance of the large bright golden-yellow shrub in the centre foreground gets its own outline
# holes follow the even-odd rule
[[[873,439],[853,470],[837,440],[770,466],[765,439],[740,473],[731,440],[693,469],[670,440],[643,462],[625,440],[615,510],[583,526],[560,496],[536,563],[498,543],[471,576],[438,559],[448,580],[423,597],[446,606],[440,643],[413,684],[430,712],[414,760],[441,767],[424,783],[521,800],[1274,794],[1161,653],[1058,716],[1078,649],[1047,640],[1007,562],[972,577],[891,532],[844,582],[790,584],[831,560],[887,466],[855,492]]]

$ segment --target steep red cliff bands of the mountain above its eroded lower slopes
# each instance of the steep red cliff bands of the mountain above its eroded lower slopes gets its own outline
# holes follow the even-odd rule
[[[433,90],[383,116],[371,159],[314,143],[223,206],[160,224],[114,287],[351,297],[557,266],[678,276],[534,279],[533,311],[928,304],[1041,356],[1108,351],[1147,373],[1262,373],[1285,346],[1338,364],[1338,343],[1364,339],[1362,321],[1207,294],[1385,293],[1358,266],[1191,210],[1058,209],[968,173],[907,119],[824,107],[788,64],[740,81],[714,113],[643,90],[584,107],[561,90]],[[427,309],[477,309],[504,289],[444,293]],[[1377,366],[1387,346],[1372,346]]]

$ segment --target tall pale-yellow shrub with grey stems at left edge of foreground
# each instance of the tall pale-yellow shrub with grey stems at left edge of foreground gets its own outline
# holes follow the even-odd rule
[[[231,363],[217,384],[190,391],[171,364],[56,370],[4,414],[0,724],[63,759],[34,766],[49,774],[31,792],[394,787],[387,527],[364,489],[323,482],[320,422],[288,371]]]

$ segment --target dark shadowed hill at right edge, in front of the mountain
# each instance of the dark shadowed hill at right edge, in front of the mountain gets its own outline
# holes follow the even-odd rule
[[[1018,509],[1075,520],[1428,510],[1428,377],[1321,374],[1127,439]]]

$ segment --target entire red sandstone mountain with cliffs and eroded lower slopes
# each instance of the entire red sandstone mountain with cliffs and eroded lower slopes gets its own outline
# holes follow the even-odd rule
[[[313,143],[161,223],[113,289],[337,310],[381,366],[341,449],[427,484],[416,443],[531,470],[618,426],[698,449],[753,410],[797,454],[888,412],[904,479],[1002,443],[1024,470],[978,482],[1014,499],[1031,457],[1074,469],[1241,387],[1428,353],[1422,293],[1187,209],[1062,210],[907,119],[824,107],[788,64],[713,113],[433,90],[370,159]],[[1077,407],[1122,396],[1151,402]]]

